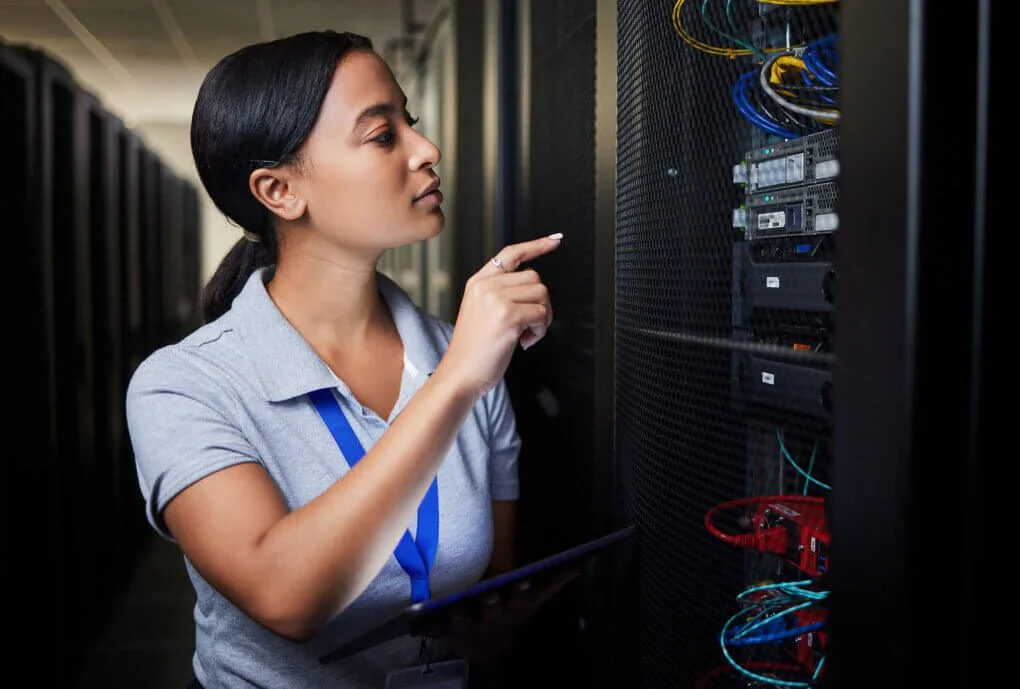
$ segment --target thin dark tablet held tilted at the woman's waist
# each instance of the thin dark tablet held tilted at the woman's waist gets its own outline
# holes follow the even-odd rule
[[[610,546],[632,536],[636,529],[632,525],[619,529],[516,570],[483,579],[457,593],[408,605],[398,617],[322,655],[319,662],[334,662],[405,635],[421,636],[425,629],[443,626],[447,616],[459,609],[461,604],[480,603],[491,594],[508,590],[525,580],[555,576],[570,568],[582,568]]]

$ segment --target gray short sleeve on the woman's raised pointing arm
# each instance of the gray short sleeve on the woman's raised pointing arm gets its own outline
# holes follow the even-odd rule
[[[162,519],[167,503],[200,479],[257,461],[257,455],[236,421],[230,394],[172,349],[158,350],[142,362],[124,404],[146,518],[172,541]]]

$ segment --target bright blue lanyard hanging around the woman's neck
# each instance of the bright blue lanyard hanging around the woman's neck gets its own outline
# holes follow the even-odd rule
[[[344,415],[333,390],[315,390],[309,393],[315,408],[318,410],[322,421],[325,422],[334,440],[340,446],[340,451],[344,454],[352,467],[358,463],[365,454],[364,448],[354,435],[354,429]],[[397,544],[394,556],[404,572],[411,578],[411,601],[419,602],[428,600],[431,592],[428,588],[428,573],[431,572],[432,563],[436,561],[436,550],[440,542],[440,489],[436,479],[428,486],[425,497],[418,505],[418,537],[411,538],[409,531],[405,531]]]

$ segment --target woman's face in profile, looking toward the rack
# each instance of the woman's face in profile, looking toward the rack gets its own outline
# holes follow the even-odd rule
[[[414,130],[390,67],[356,51],[335,72],[295,191],[314,231],[346,248],[381,252],[443,229],[439,161],[440,150]]]

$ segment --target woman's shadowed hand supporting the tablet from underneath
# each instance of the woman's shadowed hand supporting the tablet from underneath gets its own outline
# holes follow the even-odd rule
[[[503,595],[494,593],[479,606],[461,606],[451,616],[445,636],[465,660],[492,661],[510,647],[524,622],[579,575],[579,567],[571,567],[544,579],[522,581]]]

